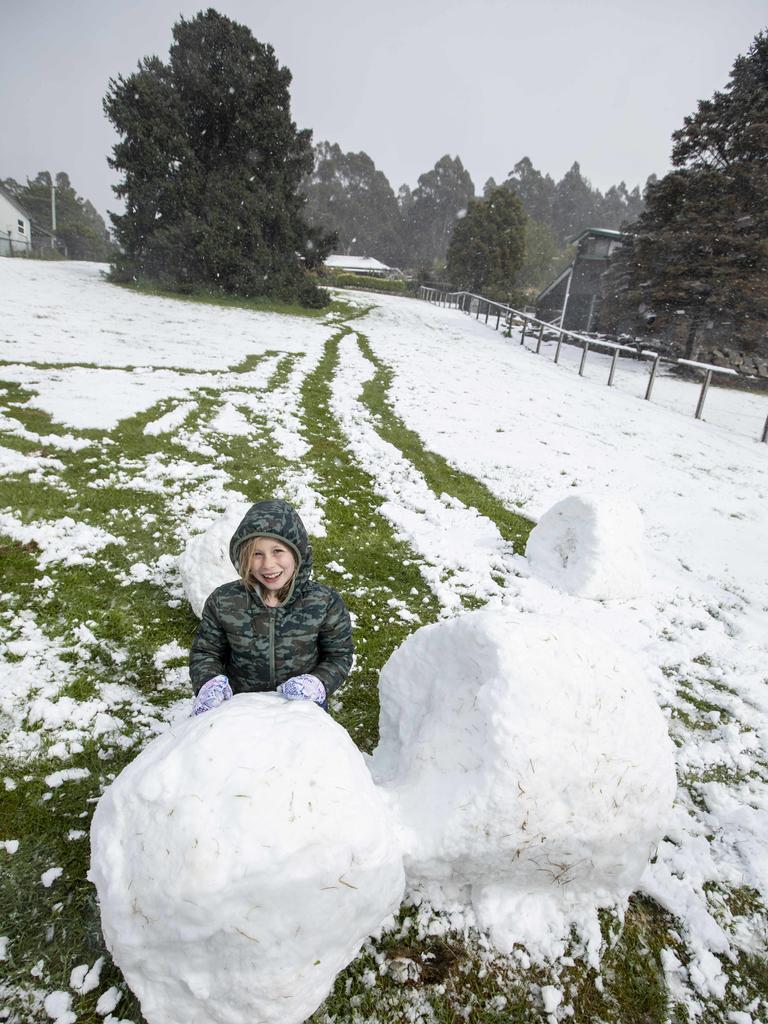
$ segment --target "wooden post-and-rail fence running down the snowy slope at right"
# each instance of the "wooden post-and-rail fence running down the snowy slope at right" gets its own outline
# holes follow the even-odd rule
[[[705,401],[707,400],[707,393],[710,390],[710,385],[712,384],[713,374],[724,374],[729,377],[738,376],[736,371],[731,370],[729,367],[716,367],[713,364],[697,362],[694,359],[674,359],[668,356],[663,356],[660,352],[655,350],[643,349],[642,347],[636,345],[622,345],[614,341],[590,337],[575,331],[567,331],[558,324],[550,324],[547,321],[537,319],[537,317],[532,316],[530,313],[505,305],[503,302],[495,302],[493,299],[486,299],[482,295],[475,295],[473,292],[446,292],[438,288],[433,288],[429,285],[422,285],[419,289],[419,298],[424,299],[427,302],[431,302],[434,305],[459,309],[470,315],[474,313],[475,319],[483,317],[485,324],[487,324],[489,319],[493,321],[495,318],[496,324],[494,327],[497,331],[502,323],[504,324],[505,330],[508,331],[511,330],[512,327],[521,326],[520,344],[523,345],[525,343],[526,337],[535,337],[535,351],[537,354],[541,354],[544,332],[554,332],[557,336],[557,344],[555,345],[554,354],[555,362],[558,362],[560,359],[560,349],[563,342],[566,344],[581,346],[582,358],[579,364],[579,375],[581,377],[584,376],[584,369],[587,365],[587,356],[589,355],[590,350],[594,349],[610,353],[610,370],[606,381],[608,387],[613,386],[616,361],[621,352],[625,352],[628,355],[633,355],[637,358],[649,360],[648,381],[645,387],[644,395],[646,401],[650,401],[650,396],[653,393],[653,384],[655,383],[656,371],[658,370],[659,362],[700,370],[703,372],[705,378],[701,382],[701,390],[699,391],[696,409],[693,414],[697,420],[700,420],[703,414]],[[766,417],[760,440],[764,443],[768,443],[768,416]]]

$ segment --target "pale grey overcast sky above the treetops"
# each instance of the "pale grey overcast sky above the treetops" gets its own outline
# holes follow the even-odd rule
[[[0,178],[63,170],[118,209],[101,99],[168,55],[182,0],[0,0]],[[396,190],[443,154],[480,191],[523,157],[605,190],[669,169],[670,135],[768,25],[766,0],[221,0],[293,73],[293,117]]]

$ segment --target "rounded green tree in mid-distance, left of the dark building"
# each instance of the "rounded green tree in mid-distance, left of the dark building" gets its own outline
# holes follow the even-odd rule
[[[525,214],[509,188],[471,199],[447,248],[446,273],[459,288],[488,298],[509,299],[522,266]]]

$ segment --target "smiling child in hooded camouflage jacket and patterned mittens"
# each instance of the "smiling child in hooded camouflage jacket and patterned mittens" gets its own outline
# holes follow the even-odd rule
[[[189,652],[193,714],[264,690],[327,708],[352,664],[351,624],[336,591],[311,579],[312,549],[293,506],[252,505],[229,557],[240,580],[210,595]]]

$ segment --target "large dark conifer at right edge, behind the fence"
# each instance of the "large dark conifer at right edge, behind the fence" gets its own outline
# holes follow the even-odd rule
[[[687,324],[765,346],[768,327],[768,37],[739,56],[723,92],[701,100],[673,135],[676,170],[651,183],[645,211],[611,261],[604,318],[637,330]]]

